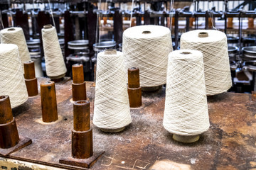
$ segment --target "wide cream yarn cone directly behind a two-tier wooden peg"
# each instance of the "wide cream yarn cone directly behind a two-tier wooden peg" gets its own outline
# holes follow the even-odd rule
[[[134,26],[124,30],[124,64],[139,67],[142,87],[166,84],[168,55],[172,51],[171,32],[163,26]]]

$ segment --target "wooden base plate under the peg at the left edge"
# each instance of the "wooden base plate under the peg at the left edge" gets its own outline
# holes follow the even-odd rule
[[[31,145],[31,143],[32,140],[29,139],[28,137],[20,137],[18,144],[15,145],[14,147],[10,147],[8,149],[0,149],[0,155],[9,155],[11,153],[18,151],[19,149],[22,149],[23,147]]]

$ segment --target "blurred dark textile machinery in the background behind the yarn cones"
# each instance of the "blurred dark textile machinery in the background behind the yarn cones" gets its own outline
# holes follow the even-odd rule
[[[98,52],[122,50],[125,29],[152,24],[171,29],[174,50],[179,49],[186,31],[223,31],[228,37],[233,78],[230,91],[256,90],[256,1],[1,0],[0,9],[0,30],[23,28],[37,77],[46,77],[41,29],[48,23],[58,32],[66,76],[72,77],[71,66],[81,63],[85,80],[90,81]]]

